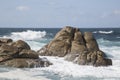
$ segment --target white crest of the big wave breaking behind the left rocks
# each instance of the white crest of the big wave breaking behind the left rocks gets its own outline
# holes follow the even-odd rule
[[[46,35],[45,31],[32,31],[27,30],[23,32],[12,32],[8,36],[3,36],[3,38],[11,38],[13,40],[40,40]]]

